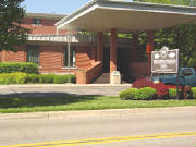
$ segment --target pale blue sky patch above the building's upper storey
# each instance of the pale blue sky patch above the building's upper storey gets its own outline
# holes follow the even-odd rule
[[[26,12],[71,14],[90,0],[25,0]]]

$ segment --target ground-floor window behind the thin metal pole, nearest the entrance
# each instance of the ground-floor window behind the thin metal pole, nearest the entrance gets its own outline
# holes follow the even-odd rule
[[[68,47],[64,49],[64,66],[69,66]],[[75,66],[75,48],[70,48],[70,66]]]

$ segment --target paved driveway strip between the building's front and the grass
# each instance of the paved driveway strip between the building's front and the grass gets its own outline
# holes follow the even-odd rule
[[[9,96],[64,96],[64,95],[99,95],[118,96],[120,91],[130,88],[131,84],[29,84],[1,85],[0,97]]]

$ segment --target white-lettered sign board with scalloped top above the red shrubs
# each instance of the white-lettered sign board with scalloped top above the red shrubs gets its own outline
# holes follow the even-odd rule
[[[169,50],[162,47],[160,51],[151,52],[151,73],[177,73],[179,49]]]

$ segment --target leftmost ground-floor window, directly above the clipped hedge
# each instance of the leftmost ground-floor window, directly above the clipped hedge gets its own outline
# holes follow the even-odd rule
[[[26,54],[27,62],[39,63],[39,46],[27,46]]]

